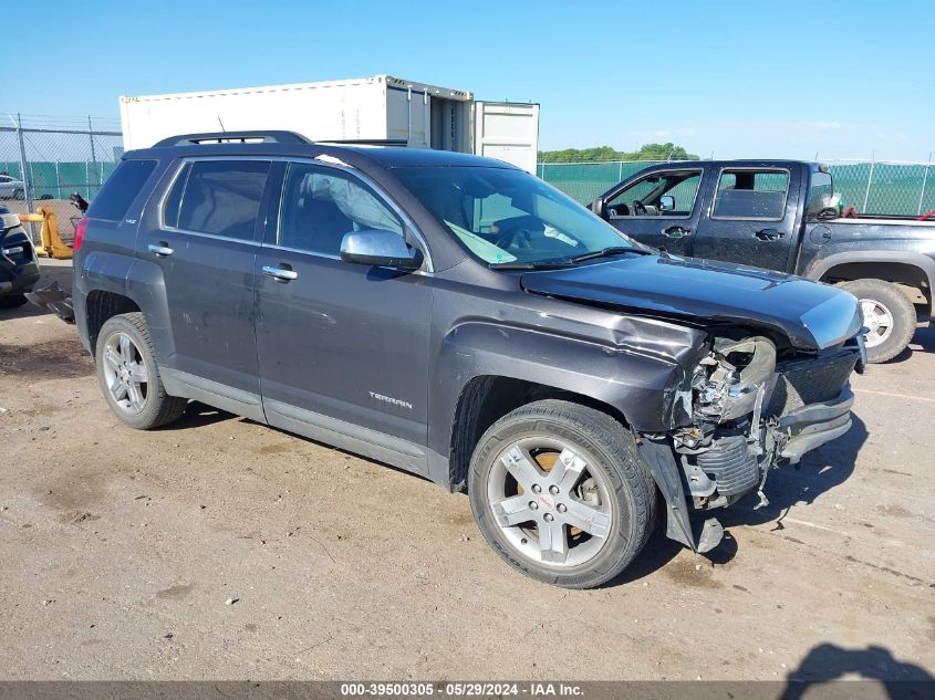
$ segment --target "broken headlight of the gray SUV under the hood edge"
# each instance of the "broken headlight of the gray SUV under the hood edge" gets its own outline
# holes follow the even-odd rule
[[[758,395],[770,394],[775,384],[776,346],[771,341],[761,336],[717,338],[695,369],[695,416],[714,424],[746,416],[755,409]]]

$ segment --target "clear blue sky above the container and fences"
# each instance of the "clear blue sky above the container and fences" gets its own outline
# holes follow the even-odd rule
[[[41,18],[7,4],[4,25],[37,31],[18,32],[0,115],[117,119],[120,95],[388,73],[538,102],[541,149],[935,150],[935,0],[91,0],[44,3]]]

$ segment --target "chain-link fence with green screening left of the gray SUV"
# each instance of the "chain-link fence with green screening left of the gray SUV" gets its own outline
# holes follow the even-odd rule
[[[92,200],[123,155],[118,122],[0,115],[0,206],[13,213],[51,209],[71,241],[81,215],[72,192]],[[33,237],[38,228],[32,224]]]

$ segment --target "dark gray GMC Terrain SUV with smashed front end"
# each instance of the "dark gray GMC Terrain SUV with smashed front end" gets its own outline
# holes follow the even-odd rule
[[[75,241],[114,414],[196,399],[467,490],[513,567],[584,588],[851,426],[856,300],[628,239],[500,161],[179,136],[128,153]]]

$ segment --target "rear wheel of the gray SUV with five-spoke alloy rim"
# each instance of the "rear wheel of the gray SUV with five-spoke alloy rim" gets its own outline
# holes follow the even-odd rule
[[[187,401],[166,394],[142,313],[108,318],[97,335],[94,359],[104,398],[131,428],[158,428],[185,412]]]

